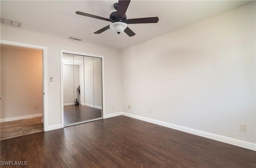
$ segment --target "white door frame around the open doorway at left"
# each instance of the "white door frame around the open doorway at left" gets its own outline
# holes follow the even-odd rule
[[[26,47],[26,48],[33,48],[33,49],[41,49],[42,50],[42,76],[43,76],[43,119],[44,119],[44,131],[47,131],[48,128],[48,111],[47,111],[47,47],[41,45],[33,45],[27,43],[20,43],[20,42],[12,42],[7,40],[0,40],[1,44],[6,45],[14,45],[18,47]]]

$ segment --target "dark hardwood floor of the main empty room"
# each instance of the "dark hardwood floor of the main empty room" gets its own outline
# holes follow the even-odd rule
[[[1,161],[27,161],[28,168],[255,168],[256,151],[118,116],[1,140]]]

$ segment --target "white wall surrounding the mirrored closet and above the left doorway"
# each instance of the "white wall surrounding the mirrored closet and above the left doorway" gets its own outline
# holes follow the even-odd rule
[[[46,93],[48,126],[59,126],[61,123],[60,49],[104,56],[105,114],[122,111],[122,100],[120,99],[122,91],[120,51],[99,45],[29,32],[22,30],[22,28],[4,24],[0,26],[1,40],[47,47],[47,82],[50,82],[50,77],[53,77],[54,82],[54,87],[48,87],[48,93]],[[111,105],[114,105],[115,108],[111,109]]]

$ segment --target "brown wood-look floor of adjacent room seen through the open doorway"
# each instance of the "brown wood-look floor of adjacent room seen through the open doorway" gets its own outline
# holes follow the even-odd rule
[[[8,121],[0,124],[0,139],[4,140],[42,131],[44,131],[42,117]]]

